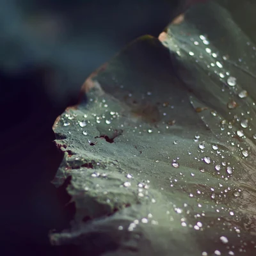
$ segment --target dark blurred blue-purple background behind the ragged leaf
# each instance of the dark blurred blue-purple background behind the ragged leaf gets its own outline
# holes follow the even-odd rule
[[[65,208],[65,189],[50,183],[62,157],[51,127],[76,103],[86,77],[138,36],[158,36],[198,2],[204,1],[1,0],[0,241],[7,250],[46,246],[49,229],[68,225],[74,209]],[[255,42],[255,1],[218,2]]]

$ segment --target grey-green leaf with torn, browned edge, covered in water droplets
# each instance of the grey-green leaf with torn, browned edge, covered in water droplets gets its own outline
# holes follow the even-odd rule
[[[214,3],[191,8],[163,44],[144,36],[113,58],[88,104],[54,127],[65,157],[53,182],[71,177],[76,214],[52,244],[90,255],[255,255],[254,58]]]

